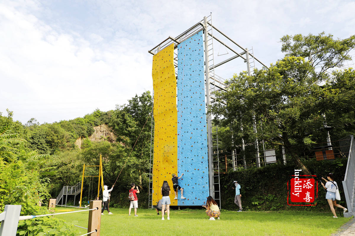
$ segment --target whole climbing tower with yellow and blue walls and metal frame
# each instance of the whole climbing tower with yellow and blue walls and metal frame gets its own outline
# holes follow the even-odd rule
[[[180,198],[180,191],[177,200],[171,194],[172,206],[201,206],[210,195],[220,201],[219,167],[213,157],[216,138],[213,138],[212,117],[207,114],[207,108],[217,102],[213,93],[225,91],[227,86],[225,80],[215,74],[215,68],[237,57],[244,59],[249,69],[250,64],[244,56],[248,55],[246,48],[242,48],[241,53],[236,52],[216,38],[212,30],[242,48],[212,25],[210,15],[176,38],[169,36],[148,51],[153,54],[154,91],[149,206],[157,205],[161,199],[164,180],[173,191],[171,175],[174,173],[178,177],[184,173],[179,185],[184,188],[186,199]],[[228,49],[235,56],[215,63],[213,41],[225,48],[227,53],[221,55],[228,54]],[[253,54],[249,55],[253,61],[260,62]]]

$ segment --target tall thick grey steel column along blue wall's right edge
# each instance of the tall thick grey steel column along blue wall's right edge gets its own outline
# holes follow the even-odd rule
[[[206,71],[206,111],[210,104],[209,94],[209,65],[208,65],[208,44],[207,44],[207,19],[203,17],[203,29],[204,29],[204,67]],[[212,39],[213,40],[213,39]],[[207,114],[207,146],[208,146],[208,177],[209,177],[209,195],[214,196],[214,179],[213,179],[213,157],[212,157],[212,125],[211,114]],[[218,155],[218,154],[217,154]]]

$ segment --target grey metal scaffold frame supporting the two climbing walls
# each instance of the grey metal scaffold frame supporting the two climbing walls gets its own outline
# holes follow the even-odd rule
[[[194,24],[192,27],[184,31],[183,33],[179,34],[175,38],[169,36],[166,38],[164,41],[160,42],[157,46],[153,47],[151,50],[148,52],[155,55],[159,51],[163,50],[165,47],[174,44],[174,67],[178,67],[178,53],[177,53],[177,48],[178,45],[184,41],[185,39],[191,37],[192,35],[195,35],[199,31],[203,30],[203,36],[204,36],[204,75],[205,75],[205,86],[206,86],[206,111],[209,107],[214,102],[220,102],[223,103],[223,101],[216,101],[216,98],[214,96],[215,92],[219,91],[226,91],[228,86],[225,84],[225,79],[222,77],[218,76],[215,74],[215,69],[220,67],[221,65],[225,63],[230,63],[236,58],[240,58],[243,60],[244,63],[246,63],[246,69],[248,72],[248,75],[251,75],[252,69],[255,68],[255,64],[258,63],[261,66],[267,67],[264,63],[262,63],[258,58],[254,56],[253,48],[251,50],[248,50],[247,48],[242,47],[239,45],[237,42],[235,42],[233,39],[231,39],[229,36],[227,36],[225,33],[223,33],[221,30],[216,28],[212,24],[212,13],[208,17],[203,17],[203,19],[196,24]],[[213,42],[218,42],[221,45],[223,45],[226,50],[228,49],[230,52],[232,52],[234,55],[231,56],[228,59],[225,59],[224,61],[215,63],[215,56],[220,56],[220,55],[215,55],[217,53],[214,52],[213,50]],[[239,51],[239,52],[238,52]],[[177,76],[177,69],[175,70],[175,75]],[[224,104],[224,103],[223,103]],[[217,128],[217,127],[216,127]],[[256,132],[256,131],[255,131]],[[220,186],[219,186],[219,168],[214,168],[214,162],[217,162],[219,165],[219,160],[218,160],[218,142],[214,145],[213,141],[217,140],[218,141],[218,133],[217,130],[215,132],[215,138],[213,138],[214,134],[212,134],[212,116],[211,114],[207,113],[207,137],[208,137],[208,163],[209,163],[209,194],[215,198],[218,196],[218,200],[220,203]],[[153,142],[153,140],[151,141]],[[256,140],[256,146],[257,146],[258,141]],[[242,146],[244,144],[244,140],[242,140]],[[217,150],[214,150],[213,147],[216,147]],[[232,147],[232,149],[234,149]],[[213,152],[217,151],[217,155],[213,155]],[[244,151],[244,150],[243,150]],[[151,150],[152,153],[152,150]],[[260,165],[260,160],[258,157],[258,152],[256,151],[256,162],[259,163]],[[217,157],[214,157],[217,156]],[[233,156],[233,158],[235,158]],[[152,161],[152,158],[151,158]],[[150,168],[152,168],[152,163],[150,163]],[[237,167],[233,167],[233,169],[236,169]],[[217,169],[218,173],[215,173],[215,169]],[[152,175],[152,173],[151,173]],[[218,178],[218,180],[215,178]],[[151,190],[151,185],[149,185],[149,189]],[[217,190],[218,189],[218,190]],[[218,193],[218,195],[217,195]],[[149,204],[151,204],[151,195],[152,192],[149,191]]]

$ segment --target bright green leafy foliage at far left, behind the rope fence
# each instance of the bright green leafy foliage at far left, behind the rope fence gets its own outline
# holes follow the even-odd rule
[[[21,205],[21,215],[46,214],[47,210],[37,206],[40,200],[48,199],[47,178],[40,178],[44,162],[48,156],[27,151],[26,140],[11,128],[16,128],[12,117],[0,117],[6,126],[0,125],[0,211],[5,205]],[[75,235],[72,227],[62,220],[40,218],[20,221],[17,235]]]

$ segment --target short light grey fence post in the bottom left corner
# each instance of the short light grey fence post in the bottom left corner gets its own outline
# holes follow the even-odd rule
[[[0,236],[16,236],[20,213],[21,205],[5,205],[0,214]]]

